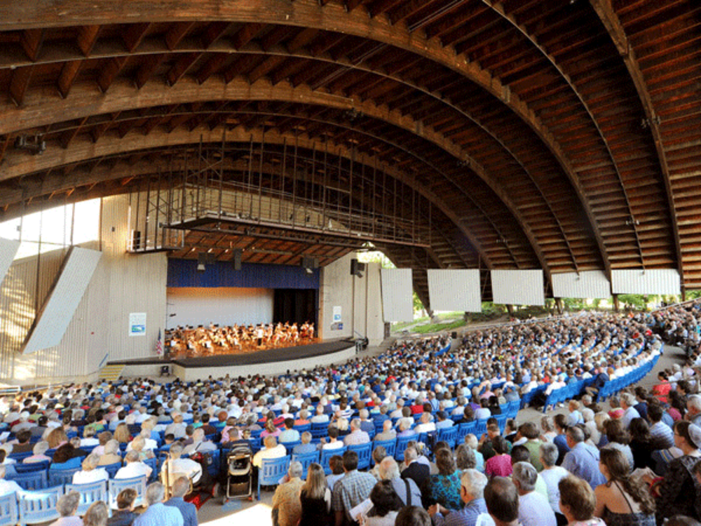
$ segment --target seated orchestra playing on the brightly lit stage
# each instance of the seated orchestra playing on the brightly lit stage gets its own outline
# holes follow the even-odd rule
[[[233,354],[261,351],[314,343],[314,324],[259,323],[208,327],[186,325],[165,331],[165,349],[172,357],[193,358],[212,354]]]

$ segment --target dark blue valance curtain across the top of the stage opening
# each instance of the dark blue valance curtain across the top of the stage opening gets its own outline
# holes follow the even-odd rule
[[[245,287],[245,288],[319,288],[319,269],[307,274],[302,267],[243,263],[234,270],[231,262],[207,264],[197,271],[196,259],[168,259],[168,287]]]

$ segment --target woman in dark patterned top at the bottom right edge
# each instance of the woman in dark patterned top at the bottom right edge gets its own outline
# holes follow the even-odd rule
[[[674,424],[674,445],[683,455],[669,462],[665,480],[660,485],[658,521],[672,515],[687,515],[698,520],[695,510],[696,481],[692,468],[701,460],[701,428],[685,420]]]

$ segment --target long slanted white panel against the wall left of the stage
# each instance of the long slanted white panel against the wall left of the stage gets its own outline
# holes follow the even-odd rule
[[[34,353],[61,343],[101,256],[99,250],[78,247],[70,250],[53,290],[29,330],[22,353]]]

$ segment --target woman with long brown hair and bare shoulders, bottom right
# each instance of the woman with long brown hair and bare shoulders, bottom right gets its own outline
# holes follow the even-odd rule
[[[620,450],[602,449],[599,469],[607,482],[594,491],[594,515],[603,518],[606,526],[655,526],[655,501],[644,483],[630,478],[625,455]]]

